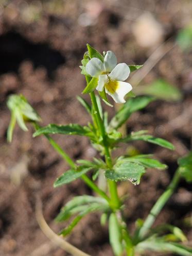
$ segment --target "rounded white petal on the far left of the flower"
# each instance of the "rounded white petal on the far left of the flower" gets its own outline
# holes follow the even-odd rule
[[[88,64],[86,64],[86,72],[92,76],[97,77],[104,72],[104,66],[101,60],[98,58],[92,58]]]

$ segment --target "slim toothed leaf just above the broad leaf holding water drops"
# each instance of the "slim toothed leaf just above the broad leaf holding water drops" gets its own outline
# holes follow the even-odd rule
[[[167,165],[162,164],[158,160],[151,159],[149,155],[137,155],[134,157],[126,157],[118,161],[119,162],[132,162],[143,165],[146,168],[166,169]]]

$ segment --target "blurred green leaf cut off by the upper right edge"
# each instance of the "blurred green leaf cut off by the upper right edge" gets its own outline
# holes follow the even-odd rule
[[[177,43],[183,50],[188,50],[192,47],[192,26],[188,25],[181,29],[177,36]]]

